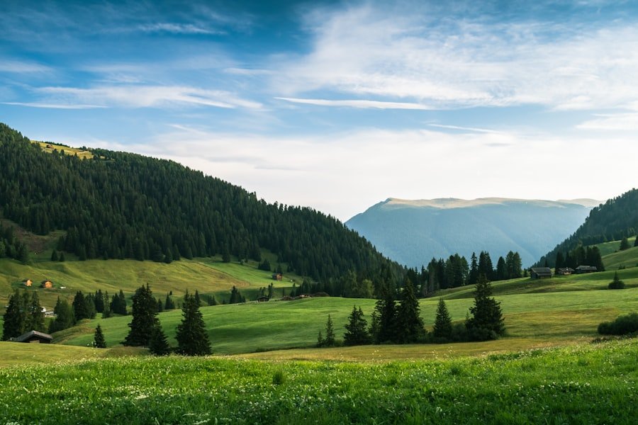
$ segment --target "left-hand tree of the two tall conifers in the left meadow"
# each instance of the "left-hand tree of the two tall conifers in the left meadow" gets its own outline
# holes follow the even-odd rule
[[[147,346],[151,331],[157,326],[157,300],[153,297],[148,283],[135,290],[131,313],[133,320],[128,324],[130,331],[122,344],[125,346]]]

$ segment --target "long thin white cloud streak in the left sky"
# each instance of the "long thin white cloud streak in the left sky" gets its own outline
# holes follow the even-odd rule
[[[213,106],[217,108],[262,108],[260,103],[237,97],[228,91],[189,86],[100,86],[91,89],[43,87],[37,94],[55,99],[55,104],[91,104],[125,108],[157,108],[170,105]]]

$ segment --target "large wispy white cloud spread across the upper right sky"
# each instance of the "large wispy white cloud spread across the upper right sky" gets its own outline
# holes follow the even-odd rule
[[[616,108],[638,98],[638,26],[493,22],[365,4],[315,11],[310,52],[281,60],[282,96],[320,90],[440,108]]]

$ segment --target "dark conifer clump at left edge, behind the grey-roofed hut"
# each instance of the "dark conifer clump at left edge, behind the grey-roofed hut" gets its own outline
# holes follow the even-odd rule
[[[9,297],[9,304],[4,312],[2,324],[2,341],[21,336],[28,331],[44,332],[45,314],[40,305],[37,291],[18,290]]]

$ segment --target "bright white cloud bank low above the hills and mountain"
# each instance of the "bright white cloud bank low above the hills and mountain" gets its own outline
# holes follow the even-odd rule
[[[601,175],[573,173],[571,165],[593,158],[612,164],[635,150],[632,137],[610,137],[600,149],[599,140],[587,137],[515,132],[369,129],[275,137],[174,125],[139,145],[104,147],[174,159],[269,202],[309,205],[342,220],[389,197],[606,199],[635,180],[631,167]]]

